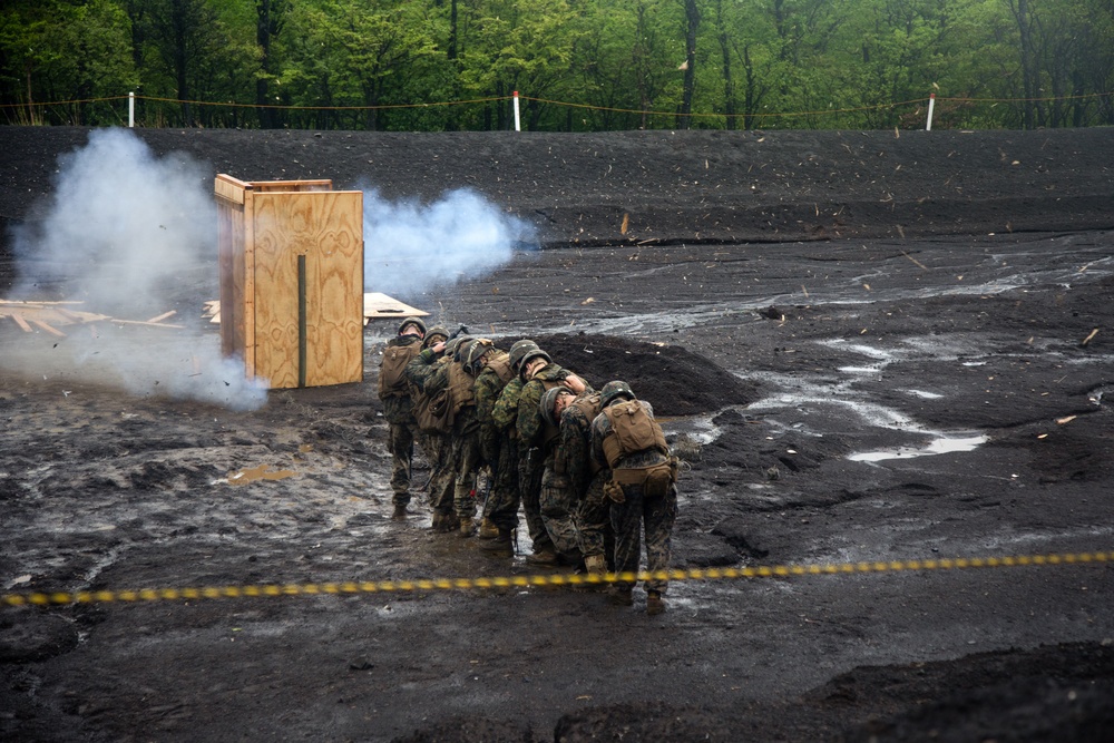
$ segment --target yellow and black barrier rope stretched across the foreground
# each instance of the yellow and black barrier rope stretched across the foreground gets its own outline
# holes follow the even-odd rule
[[[528,588],[531,586],[584,586],[636,580],[723,580],[739,578],[789,578],[812,575],[852,575],[899,570],[951,570],[1025,566],[1087,565],[1114,561],[1114,553],[1071,555],[1022,555],[1015,557],[957,557],[925,560],[861,561],[814,565],[776,565],[746,568],[701,568],[692,570],[643,570],[596,575],[531,575],[494,578],[423,578],[417,580],[364,580],[346,583],[270,584],[262,586],[217,586],[208,588],[144,588],[139,590],[80,590],[52,594],[4,594],[3,606],[52,604],[99,604],[111,602],[192,600],[201,598],[255,598],[261,596],[321,596],[419,590],[470,590]]]

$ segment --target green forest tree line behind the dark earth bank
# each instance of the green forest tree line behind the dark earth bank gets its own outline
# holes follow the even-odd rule
[[[7,0],[0,123],[1114,124],[1114,0]]]

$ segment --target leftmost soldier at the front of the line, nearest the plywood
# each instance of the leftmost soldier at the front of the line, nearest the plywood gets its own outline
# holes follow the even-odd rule
[[[379,399],[383,402],[383,418],[388,426],[387,448],[391,452],[391,490],[394,491],[391,518],[395,520],[404,519],[408,514],[410,470],[414,438],[418,436],[405,369],[421,349],[424,335],[426,323],[418,317],[407,317],[399,325],[398,335],[387,342],[380,361]]]

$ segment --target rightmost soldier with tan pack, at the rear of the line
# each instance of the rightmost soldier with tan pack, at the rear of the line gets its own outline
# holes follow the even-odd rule
[[[654,428],[653,443],[636,451],[618,443],[616,434],[622,419],[635,419],[636,413],[627,403],[641,405],[653,421],[654,410],[644,400],[636,400],[626,382],[608,382],[600,390],[603,409],[592,422],[592,457],[599,467],[609,467],[612,478],[605,492],[612,499],[612,526],[615,529],[615,570],[637,573],[642,548],[639,538],[646,532],[646,569],[654,573],[670,566],[673,525],[677,518],[676,460],[670,456],[661,427]],[[645,420],[645,419],[643,419]],[[618,423],[616,421],[619,421]],[[626,429],[629,430],[629,429]],[[664,468],[664,469],[663,469]],[[659,476],[665,473],[664,479]],[[646,581],[646,613],[665,610],[662,595],[667,583],[657,578]],[[633,584],[618,583],[614,594],[616,603],[631,606]]]

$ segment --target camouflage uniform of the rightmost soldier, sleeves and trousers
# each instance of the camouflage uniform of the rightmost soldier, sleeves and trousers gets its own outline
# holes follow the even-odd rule
[[[645,400],[638,401],[653,418],[654,409]],[[592,457],[597,465],[607,467],[604,454],[604,439],[612,432],[612,423],[607,416],[600,412],[592,421]],[[656,449],[644,449],[624,456],[615,462],[616,469],[643,469],[662,465],[668,457]],[[646,498],[642,486],[623,485],[625,501],[612,502],[612,527],[615,529],[615,570],[617,573],[637,573],[642,553],[639,545],[642,530],[646,531],[646,569],[649,571],[666,570],[670,567],[672,551],[673,525],[677,520],[677,489],[670,486],[664,498]],[[620,584],[629,587],[631,584]],[[647,592],[664,594],[667,588],[665,580],[653,578],[646,581]]]

